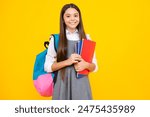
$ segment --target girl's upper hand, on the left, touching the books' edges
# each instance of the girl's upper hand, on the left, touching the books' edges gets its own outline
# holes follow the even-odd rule
[[[71,54],[71,56],[67,59],[66,64],[72,65],[81,61],[81,56],[79,54]]]

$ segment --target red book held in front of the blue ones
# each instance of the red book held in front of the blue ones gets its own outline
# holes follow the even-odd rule
[[[83,40],[80,55],[86,62],[92,63],[95,46],[96,46],[96,42],[87,39]],[[88,73],[89,70],[85,69],[83,71],[78,72],[77,77],[78,75],[87,75]]]

